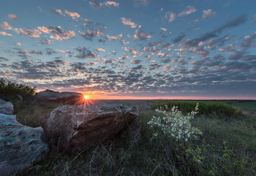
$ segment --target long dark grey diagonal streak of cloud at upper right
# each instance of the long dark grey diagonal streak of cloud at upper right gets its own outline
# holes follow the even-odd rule
[[[206,34],[203,34],[202,37],[187,40],[186,42],[184,42],[184,47],[197,47],[200,42],[205,42],[208,39],[217,37],[218,34],[220,34],[224,29],[239,26],[239,25],[245,23],[245,21],[246,21],[246,16],[240,15],[240,16],[238,16],[238,18],[227,21],[219,28],[217,28],[213,31],[206,32]]]

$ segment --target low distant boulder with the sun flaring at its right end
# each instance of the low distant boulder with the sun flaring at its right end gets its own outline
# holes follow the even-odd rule
[[[83,104],[84,98],[82,93],[76,92],[58,92],[49,89],[40,91],[34,96],[39,101],[63,102],[69,104]]]

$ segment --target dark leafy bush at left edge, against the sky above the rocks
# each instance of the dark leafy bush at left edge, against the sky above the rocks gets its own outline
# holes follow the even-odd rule
[[[0,79],[0,94],[5,96],[34,96],[34,93],[36,93],[36,87],[32,88],[29,85],[12,83],[4,78]]]

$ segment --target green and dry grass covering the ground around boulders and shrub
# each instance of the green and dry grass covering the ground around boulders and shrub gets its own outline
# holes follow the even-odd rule
[[[189,106],[194,109],[195,102],[192,103],[178,102],[178,107],[181,110],[189,110]],[[20,123],[40,126],[42,117],[60,105],[62,104],[32,101],[15,112]],[[227,151],[233,150],[235,156],[232,156],[234,160],[231,163],[224,164],[243,164],[245,159],[246,162],[256,165],[256,117],[238,118],[236,113],[230,112],[237,109],[225,105],[200,102],[204,111],[192,120],[192,125],[203,131],[203,145],[208,148],[208,163],[224,162],[221,163],[217,159],[222,159],[223,142],[226,141],[229,146]],[[216,108],[221,110],[218,111]],[[219,118],[218,113],[221,113],[222,118]],[[224,117],[225,114],[228,115],[227,118]],[[147,122],[153,115],[158,115],[153,109],[140,112],[135,122],[116,137],[102,145],[91,146],[81,153],[61,153],[58,146],[51,145],[47,158],[16,175],[205,175],[207,172],[200,171],[202,166],[189,163],[181,151],[176,150],[175,141],[164,136],[157,139],[152,137],[154,131]],[[196,145],[202,145],[202,142],[195,142],[190,146],[192,148]],[[214,153],[211,153],[212,151]],[[249,165],[244,167],[247,168]],[[204,169],[207,171],[208,167]],[[230,168],[229,170],[233,171]],[[232,173],[220,172],[219,175],[233,175]],[[252,175],[251,170],[236,172],[236,175],[241,173]]]

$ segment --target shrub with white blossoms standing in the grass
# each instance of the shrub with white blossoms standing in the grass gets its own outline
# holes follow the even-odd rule
[[[187,142],[188,139],[198,139],[198,137],[203,134],[200,129],[193,127],[189,121],[197,114],[198,104],[195,107],[195,111],[189,112],[187,115],[182,115],[178,107],[175,106],[173,106],[170,111],[168,110],[167,105],[165,105],[165,108],[160,107],[160,110],[156,110],[156,112],[163,113],[165,117],[160,118],[153,116],[148,124],[151,125],[152,128],[158,126],[163,134],[173,137],[177,141],[183,140]],[[158,132],[155,132],[153,135],[157,137]]]

